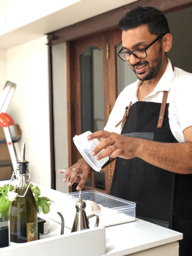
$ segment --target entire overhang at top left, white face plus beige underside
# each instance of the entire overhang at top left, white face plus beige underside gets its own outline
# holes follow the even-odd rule
[[[135,0],[0,0],[0,48],[33,41],[51,31]]]

